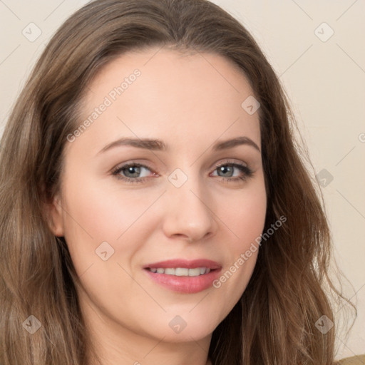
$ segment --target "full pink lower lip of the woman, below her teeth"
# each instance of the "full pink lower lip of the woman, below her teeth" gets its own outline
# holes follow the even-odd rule
[[[175,275],[158,274],[144,269],[148,276],[163,287],[180,293],[198,293],[212,286],[212,282],[219,277],[220,269],[215,269],[198,277],[178,277]]]

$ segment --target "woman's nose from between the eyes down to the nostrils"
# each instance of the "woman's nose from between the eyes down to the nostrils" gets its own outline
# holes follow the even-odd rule
[[[199,242],[217,232],[215,204],[198,179],[181,187],[170,185],[165,194],[163,231],[169,238]]]

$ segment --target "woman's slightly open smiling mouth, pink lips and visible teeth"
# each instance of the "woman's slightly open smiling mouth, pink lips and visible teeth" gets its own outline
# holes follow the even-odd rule
[[[222,266],[208,259],[174,259],[148,264],[143,269],[153,282],[165,289],[192,294],[212,287]]]

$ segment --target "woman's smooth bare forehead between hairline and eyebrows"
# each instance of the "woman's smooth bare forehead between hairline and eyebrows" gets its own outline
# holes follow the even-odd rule
[[[214,140],[243,132],[259,144],[258,114],[241,106],[252,95],[238,66],[215,53],[131,51],[104,66],[88,85],[79,122],[91,123],[80,140],[88,135],[100,145],[127,135],[176,144],[189,135],[204,141],[208,135]]]

